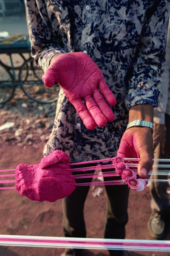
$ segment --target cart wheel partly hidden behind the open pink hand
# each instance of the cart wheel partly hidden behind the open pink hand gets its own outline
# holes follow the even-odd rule
[[[39,103],[57,101],[59,85],[46,87],[42,81],[44,71],[37,67],[35,60],[29,58],[23,63],[19,71],[19,82],[24,93]]]

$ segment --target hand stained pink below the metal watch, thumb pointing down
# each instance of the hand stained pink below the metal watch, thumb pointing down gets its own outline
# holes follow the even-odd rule
[[[123,158],[140,158],[137,167],[138,174],[144,179],[149,179],[150,175],[148,173],[153,165],[152,147],[153,138],[150,128],[131,127],[123,134],[117,155]],[[131,185],[135,186],[133,184],[135,181],[131,182]]]

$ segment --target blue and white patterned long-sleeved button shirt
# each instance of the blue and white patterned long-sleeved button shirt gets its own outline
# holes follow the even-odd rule
[[[88,130],[60,90],[44,155],[59,149],[73,162],[116,155],[128,109],[158,106],[169,0],[27,0],[26,10],[32,55],[43,70],[56,53],[87,52],[117,100],[115,120]]]

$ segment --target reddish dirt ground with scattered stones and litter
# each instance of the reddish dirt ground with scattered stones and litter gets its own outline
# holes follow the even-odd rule
[[[23,102],[26,106],[22,104]],[[54,104],[50,107],[51,115],[44,105],[36,104],[24,96],[20,88],[13,99],[3,105],[0,104],[0,126],[7,121],[15,123],[13,127],[0,131],[0,170],[15,169],[20,163],[40,162],[43,147],[51,131],[51,126],[46,126],[44,119],[46,118],[46,122],[50,124],[55,114]],[[39,121],[36,121],[37,119]],[[103,195],[94,197],[91,188],[84,209],[88,238],[103,238],[105,203],[105,191]],[[36,202],[18,194],[15,189],[4,189],[0,190],[0,206],[1,234],[63,237],[61,200],[54,203]],[[130,189],[128,213],[126,239],[151,240],[147,231],[147,221],[151,213],[148,187],[142,192]],[[164,240],[170,240],[170,227]],[[58,256],[63,250],[0,246],[0,256]],[[85,250],[84,255],[106,256],[108,252]],[[170,256],[170,252],[133,251],[131,255]]]

